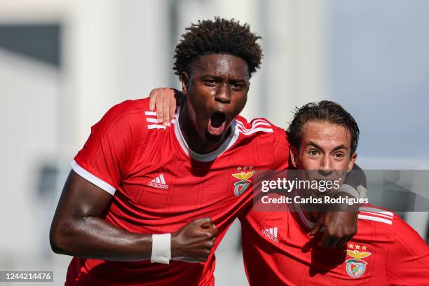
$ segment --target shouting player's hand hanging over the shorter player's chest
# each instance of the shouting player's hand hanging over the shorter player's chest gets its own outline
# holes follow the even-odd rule
[[[357,232],[357,212],[323,212],[308,235],[314,236],[323,226],[325,235],[319,245],[343,247]]]

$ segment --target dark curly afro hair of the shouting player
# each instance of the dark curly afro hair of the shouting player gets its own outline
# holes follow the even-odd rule
[[[231,19],[215,17],[214,20],[198,20],[191,24],[182,35],[182,40],[175,49],[175,74],[182,71],[190,72],[193,62],[201,55],[224,53],[241,57],[247,62],[249,76],[261,65],[263,57],[261,47],[257,43],[260,36],[250,32],[246,23]]]

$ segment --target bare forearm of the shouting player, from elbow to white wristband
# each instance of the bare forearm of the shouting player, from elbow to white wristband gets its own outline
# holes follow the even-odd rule
[[[114,261],[151,259],[152,236],[131,233],[99,217],[84,217],[51,230],[51,245],[60,254]]]

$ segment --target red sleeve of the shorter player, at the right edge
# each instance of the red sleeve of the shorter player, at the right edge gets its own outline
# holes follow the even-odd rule
[[[391,285],[429,285],[429,247],[414,229],[395,215],[386,276]]]

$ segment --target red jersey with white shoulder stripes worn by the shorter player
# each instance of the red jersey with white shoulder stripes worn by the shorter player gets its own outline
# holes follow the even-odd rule
[[[280,210],[280,207],[279,207]],[[302,212],[249,210],[241,217],[250,285],[429,285],[429,247],[400,217],[360,207],[343,249],[320,247]]]

